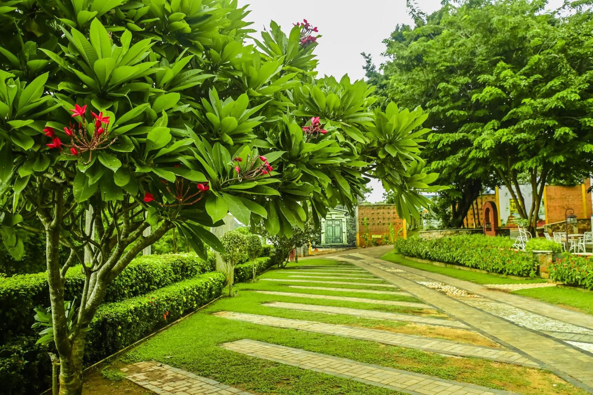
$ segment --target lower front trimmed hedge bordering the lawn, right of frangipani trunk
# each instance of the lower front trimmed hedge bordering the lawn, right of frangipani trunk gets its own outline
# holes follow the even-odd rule
[[[218,298],[227,283],[206,273],[121,302],[101,305],[87,336],[85,359],[96,362]]]

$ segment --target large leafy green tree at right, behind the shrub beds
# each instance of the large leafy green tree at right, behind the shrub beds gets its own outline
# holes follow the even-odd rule
[[[453,226],[485,187],[499,184],[535,224],[547,180],[589,173],[591,12],[576,4],[547,12],[545,1],[457,4],[428,16],[413,9],[416,26],[396,27],[385,40],[390,60],[378,95],[426,103],[433,133],[425,157],[452,186],[442,194]],[[369,62],[366,70],[380,79]],[[525,206],[519,183],[531,185],[533,205]]]

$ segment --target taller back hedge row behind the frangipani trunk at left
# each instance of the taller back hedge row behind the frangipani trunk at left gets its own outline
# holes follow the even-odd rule
[[[195,253],[149,255],[135,258],[107,288],[106,302],[125,300],[172,283],[215,270],[215,257],[204,262]],[[65,299],[81,294],[81,266],[66,273]],[[0,279],[0,342],[31,332],[35,307],[49,305],[46,273],[15,275]]]

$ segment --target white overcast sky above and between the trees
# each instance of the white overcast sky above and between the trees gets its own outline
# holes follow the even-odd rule
[[[549,0],[547,8],[557,8],[563,0]],[[430,14],[441,7],[441,0],[417,0],[417,5]],[[247,15],[257,31],[276,21],[288,33],[293,23],[303,18],[319,28],[321,37],[315,54],[319,59],[319,77],[334,75],[337,79],[348,74],[352,80],[364,77],[361,52],[371,53],[375,65],[384,59],[382,40],[389,37],[397,24],[412,24],[407,14],[406,0],[239,0],[249,4]],[[254,34],[259,37],[259,34]],[[422,103],[419,103],[422,104]],[[372,181],[369,202],[382,200],[380,181]]]

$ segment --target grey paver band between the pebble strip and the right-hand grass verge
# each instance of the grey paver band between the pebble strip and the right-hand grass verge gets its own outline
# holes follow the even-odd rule
[[[391,267],[396,267],[397,269],[406,270],[406,272],[424,275],[426,278],[429,278],[429,281],[444,282],[449,285],[457,286],[457,288],[465,289],[466,291],[473,294],[482,295],[483,297],[490,298],[498,302],[508,303],[515,307],[522,308],[523,310],[531,311],[532,313],[541,314],[545,317],[554,318],[555,320],[564,321],[566,323],[593,330],[593,319],[591,319],[591,315],[589,314],[579,313],[578,311],[569,310],[568,308],[562,308],[554,304],[538,301],[533,298],[523,297],[521,295],[494,291],[492,289],[487,289],[480,284],[452,278],[439,273],[425,272],[424,270],[415,269],[414,267],[398,265],[397,263],[366,257],[358,253],[357,255],[365,257],[367,260],[365,263],[376,262],[378,265],[388,265]],[[359,263],[359,261],[352,261],[352,263]],[[366,269],[366,267],[362,268]]]

